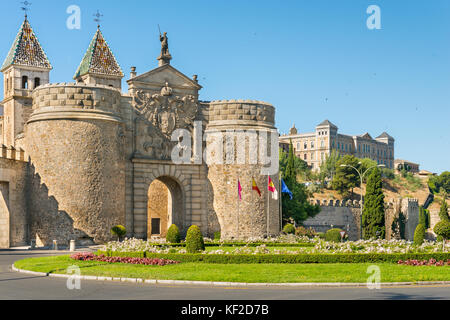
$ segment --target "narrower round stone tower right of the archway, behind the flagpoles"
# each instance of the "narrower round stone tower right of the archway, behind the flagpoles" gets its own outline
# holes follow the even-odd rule
[[[281,193],[274,118],[275,108],[261,101],[209,104],[205,160],[213,198],[209,199],[213,203],[208,217],[210,233],[221,231],[223,239],[279,234]],[[269,177],[278,199],[268,191]]]

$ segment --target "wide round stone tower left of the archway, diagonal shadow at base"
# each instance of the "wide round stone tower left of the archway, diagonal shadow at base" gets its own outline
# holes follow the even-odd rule
[[[121,93],[103,85],[52,84],[33,91],[25,128],[31,159],[31,238],[49,245],[101,243],[125,225]]]

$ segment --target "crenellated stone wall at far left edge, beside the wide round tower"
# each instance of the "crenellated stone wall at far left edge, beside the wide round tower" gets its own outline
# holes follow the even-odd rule
[[[23,150],[0,146],[0,249],[27,244],[27,169]]]

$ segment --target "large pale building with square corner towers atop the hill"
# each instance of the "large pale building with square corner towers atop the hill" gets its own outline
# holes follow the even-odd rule
[[[395,140],[386,132],[373,139],[370,134],[351,136],[338,133],[338,127],[328,120],[316,126],[311,133],[298,133],[295,125],[289,134],[280,136],[280,143],[292,141],[295,154],[306,161],[313,170],[320,170],[320,165],[332,150],[341,155],[353,155],[357,158],[369,158],[387,168],[394,168]]]

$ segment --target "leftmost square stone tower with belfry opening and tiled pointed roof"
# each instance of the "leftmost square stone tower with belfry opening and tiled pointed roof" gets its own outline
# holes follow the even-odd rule
[[[49,83],[52,66],[34,33],[27,16],[9,50],[3,73],[3,144],[16,146],[16,138],[32,112],[31,92]]]

